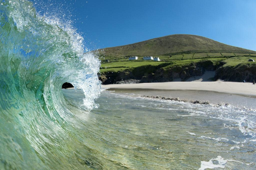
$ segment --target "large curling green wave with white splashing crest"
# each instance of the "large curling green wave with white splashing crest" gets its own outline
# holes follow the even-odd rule
[[[72,148],[74,106],[61,86],[83,90],[84,110],[97,106],[100,62],[70,25],[20,0],[0,2],[0,61],[0,169],[51,169]]]

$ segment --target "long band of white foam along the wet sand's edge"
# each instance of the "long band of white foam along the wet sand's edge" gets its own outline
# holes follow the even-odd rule
[[[129,94],[117,94],[120,96],[125,96],[126,98],[133,98],[135,100],[145,100],[145,97],[141,96],[131,96]],[[243,135],[250,135],[251,137],[249,139],[255,139],[256,133],[252,129],[256,128],[256,122],[255,122],[255,110],[248,110],[248,109],[241,109],[234,106],[216,106],[216,105],[194,105],[184,103],[184,102],[177,102],[177,101],[170,101],[170,100],[158,100],[158,99],[152,99],[152,98],[146,98],[148,101],[155,101],[157,100],[159,103],[168,103],[174,106],[180,106],[180,108],[174,108],[174,107],[159,107],[160,104],[154,104],[153,105],[146,105],[143,107],[150,107],[150,108],[156,108],[157,109],[164,109],[164,110],[176,110],[179,111],[182,108],[182,111],[186,111],[187,114],[181,115],[177,114],[177,116],[180,117],[193,117],[193,116],[205,116],[210,117],[213,119],[220,119],[224,121],[234,122],[235,126],[227,127],[226,124],[224,126],[229,129],[236,129],[238,128]]]

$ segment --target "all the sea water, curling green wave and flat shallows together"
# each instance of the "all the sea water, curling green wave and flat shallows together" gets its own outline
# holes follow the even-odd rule
[[[256,169],[254,110],[101,91],[83,44],[31,2],[0,0],[0,170]]]

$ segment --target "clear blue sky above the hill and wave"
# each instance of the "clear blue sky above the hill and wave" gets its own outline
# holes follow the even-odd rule
[[[255,0],[33,1],[37,10],[73,20],[91,50],[193,34],[256,51]]]

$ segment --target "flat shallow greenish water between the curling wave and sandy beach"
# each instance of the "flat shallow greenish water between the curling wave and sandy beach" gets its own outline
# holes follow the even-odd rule
[[[80,92],[74,91],[63,90],[66,98],[79,103]],[[253,111],[106,91],[96,102],[100,107],[88,113],[80,127],[84,145],[97,155],[90,160],[91,168],[99,168],[97,164],[102,169],[256,168]],[[88,155],[80,154],[86,162]]]

